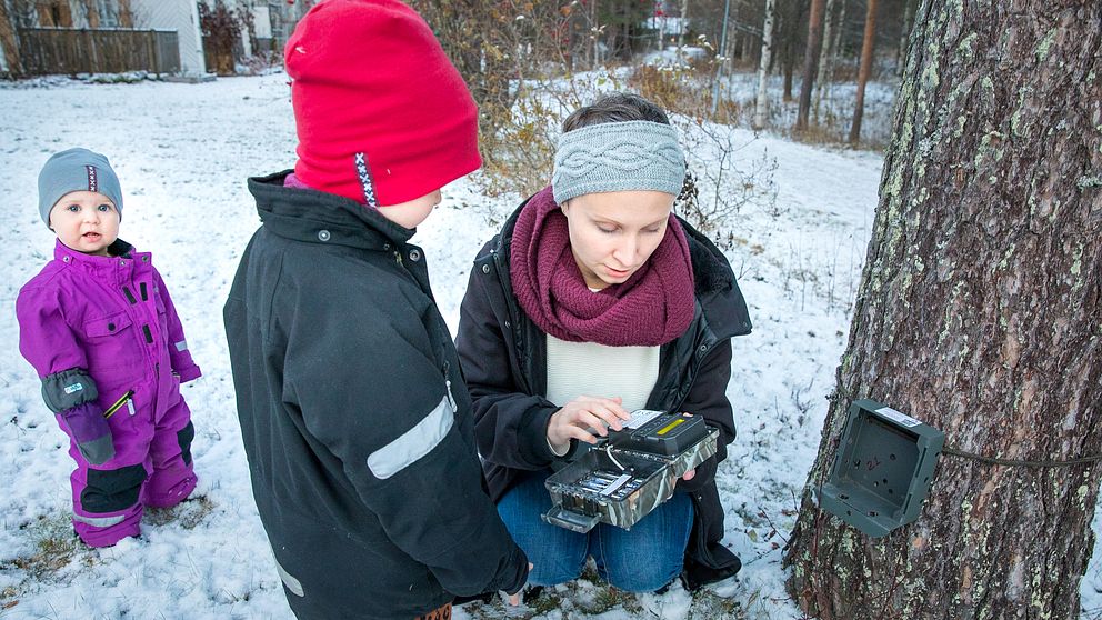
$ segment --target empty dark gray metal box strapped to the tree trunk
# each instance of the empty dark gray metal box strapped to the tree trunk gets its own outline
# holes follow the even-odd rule
[[[919,518],[945,433],[874,400],[856,400],[819,506],[862,533],[886,536]]]

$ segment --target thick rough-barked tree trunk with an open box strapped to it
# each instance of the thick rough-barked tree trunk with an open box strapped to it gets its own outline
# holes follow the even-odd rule
[[[924,0],[849,344],[785,562],[817,618],[1079,617],[1098,461],[943,453],[919,520],[818,510],[854,398],[946,448],[1102,454],[1102,4]]]

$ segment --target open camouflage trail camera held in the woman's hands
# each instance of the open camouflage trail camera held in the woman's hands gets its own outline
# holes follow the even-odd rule
[[[553,506],[543,520],[581,533],[601,522],[630,530],[715,453],[719,434],[699,416],[634,411],[622,431],[548,478]]]

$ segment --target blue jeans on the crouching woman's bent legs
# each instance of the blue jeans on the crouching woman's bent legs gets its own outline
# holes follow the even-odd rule
[[[498,514],[534,568],[528,582],[555,586],[578,578],[593,557],[601,579],[629,592],[653,592],[683,568],[692,529],[692,500],[673,497],[635,523],[631,531],[598,523],[589,533],[552,526],[540,518],[551,508],[543,481],[550,471],[533,471],[498,502]]]

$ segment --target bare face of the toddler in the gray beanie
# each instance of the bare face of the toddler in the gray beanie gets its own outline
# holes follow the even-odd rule
[[[96,191],[71,191],[50,210],[50,228],[68,248],[106,257],[119,238],[119,210]]]

